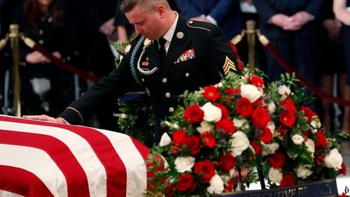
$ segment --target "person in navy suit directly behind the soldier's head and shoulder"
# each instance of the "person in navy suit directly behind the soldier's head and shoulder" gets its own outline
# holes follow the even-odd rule
[[[175,0],[180,13],[193,20],[213,22],[223,29],[229,41],[243,29],[238,0]]]

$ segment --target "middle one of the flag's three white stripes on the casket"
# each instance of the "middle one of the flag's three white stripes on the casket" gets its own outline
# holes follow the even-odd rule
[[[0,121],[1,122],[1,121]],[[76,133],[53,126],[3,122],[1,129],[36,133],[57,138],[66,144],[87,175],[90,196],[106,196],[106,170],[89,143]]]

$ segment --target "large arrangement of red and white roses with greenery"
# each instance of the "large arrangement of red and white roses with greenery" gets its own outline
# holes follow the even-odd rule
[[[305,106],[311,99],[304,89],[290,90],[294,75],[268,84],[264,76],[244,68],[181,96],[184,105],[164,122],[169,133],[148,156],[153,176],[146,195],[210,196],[259,178],[271,189],[346,173],[339,154],[346,134],[325,136],[318,115]],[[241,170],[248,170],[244,179]]]

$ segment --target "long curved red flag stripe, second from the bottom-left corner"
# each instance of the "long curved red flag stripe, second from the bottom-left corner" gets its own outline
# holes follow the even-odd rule
[[[66,177],[68,196],[90,196],[85,171],[69,147],[57,138],[36,133],[0,129],[0,143],[42,149],[50,155]]]

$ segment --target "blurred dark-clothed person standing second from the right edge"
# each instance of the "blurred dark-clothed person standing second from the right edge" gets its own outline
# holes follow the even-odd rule
[[[340,38],[342,24],[332,11],[333,0],[325,0],[323,6],[322,18],[323,18],[323,31],[321,31],[321,55],[319,72],[321,80],[319,87],[323,92],[333,94],[337,92],[334,87],[339,87],[340,93],[343,99],[346,99],[346,68],[345,57],[342,41]],[[335,78],[337,76],[337,78]],[[335,82],[335,83],[334,83]],[[339,85],[339,86],[337,86]],[[335,131],[337,122],[337,115],[335,113],[337,108],[333,108],[334,105],[325,99],[321,99],[323,112],[318,112],[323,119],[325,131],[330,133]],[[349,111],[349,110],[348,110]],[[349,112],[346,112],[349,113]],[[349,115],[344,115],[344,117]],[[348,121],[344,119],[343,122]]]

